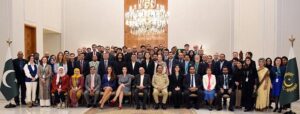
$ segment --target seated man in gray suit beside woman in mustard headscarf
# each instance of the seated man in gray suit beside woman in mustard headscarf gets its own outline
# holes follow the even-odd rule
[[[100,94],[101,78],[100,75],[96,73],[96,68],[94,66],[90,67],[90,74],[86,76],[85,79],[85,92],[84,98],[87,103],[87,107],[97,107],[97,100]],[[90,103],[90,97],[94,97],[93,104]]]

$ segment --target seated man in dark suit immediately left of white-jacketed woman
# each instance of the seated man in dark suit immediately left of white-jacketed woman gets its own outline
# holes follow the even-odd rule
[[[191,66],[189,68],[189,74],[186,75],[185,80],[183,81],[184,93],[185,97],[184,102],[186,102],[187,108],[190,109],[193,104],[190,102],[190,95],[196,94],[197,100],[195,101],[195,109],[200,108],[200,100],[203,96],[203,87],[202,87],[202,78],[199,74],[196,74],[195,67]]]

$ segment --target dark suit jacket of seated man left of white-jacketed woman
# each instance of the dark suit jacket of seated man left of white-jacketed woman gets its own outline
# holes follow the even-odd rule
[[[183,80],[183,87],[184,89],[188,89],[191,87],[190,85],[191,85],[191,76],[190,74],[187,74]],[[199,74],[195,74],[195,85],[198,89],[203,88],[202,76],[200,76]]]

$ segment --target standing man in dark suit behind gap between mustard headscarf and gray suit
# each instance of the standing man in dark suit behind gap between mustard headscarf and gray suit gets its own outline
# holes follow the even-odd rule
[[[80,69],[80,74],[84,77],[90,73],[89,62],[84,60],[84,53],[79,55],[78,61],[76,61],[76,68]]]

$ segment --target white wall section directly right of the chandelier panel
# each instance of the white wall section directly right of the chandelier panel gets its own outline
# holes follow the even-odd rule
[[[169,47],[203,45],[205,53],[231,49],[232,1],[169,0]]]

